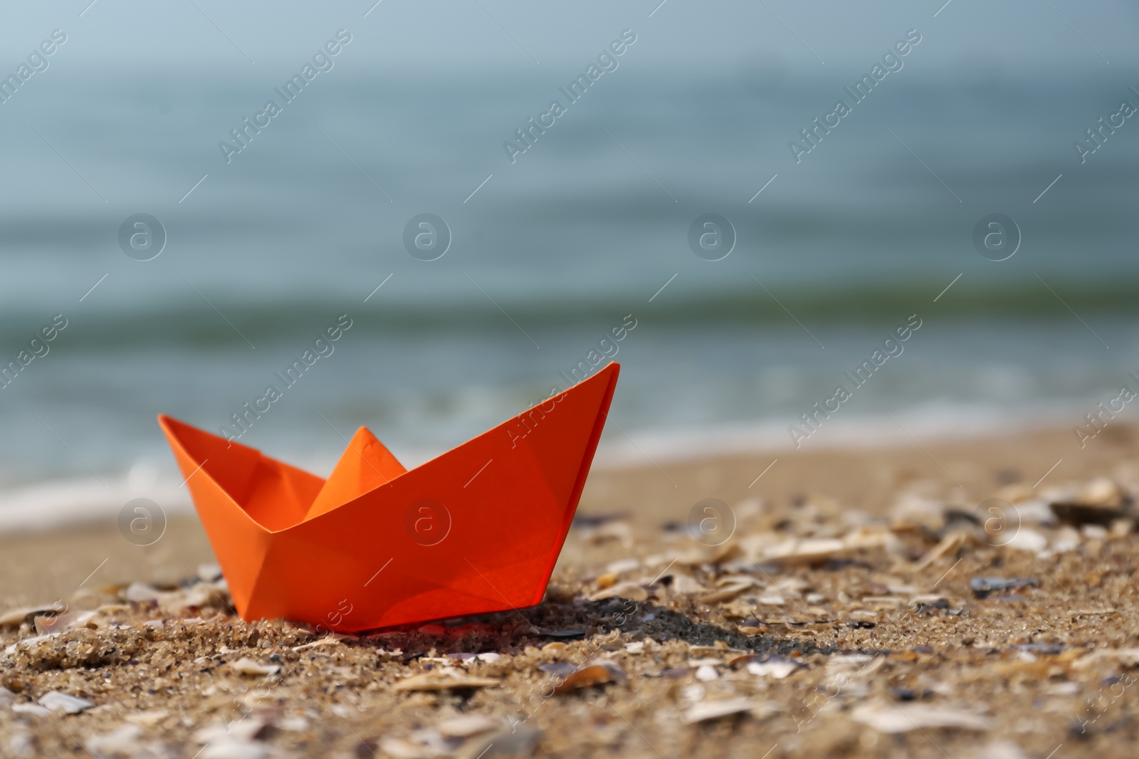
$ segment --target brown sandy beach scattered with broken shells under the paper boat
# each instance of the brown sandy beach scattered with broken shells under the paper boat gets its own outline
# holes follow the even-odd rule
[[[596,465],[541,605],[361,637],[192,519],[3,537],[0,752],[1132,756],[1134,430],[915,443]]]

